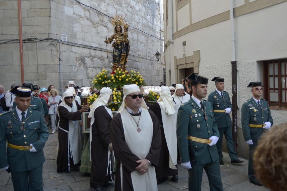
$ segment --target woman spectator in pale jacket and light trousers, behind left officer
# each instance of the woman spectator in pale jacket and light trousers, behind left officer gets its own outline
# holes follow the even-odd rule
[[[56,116],[57,116],[57,108],[58,108],[58,104],[59,101],[62,100],[61,96],[58,95],[58,92],[55,88],[51,89],[49,92],[49,101],[48,101],[48,105],[49,105],[49,115],[51,117],[51,123],[52,123],[52,133],[55,133],[57,131],[57,127],[56,127]]]

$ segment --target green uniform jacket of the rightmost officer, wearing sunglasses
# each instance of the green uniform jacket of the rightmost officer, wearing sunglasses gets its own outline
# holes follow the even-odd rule
[[[263,104],[263,113],[252,97],[245,101],[241,107],[241,125],[245,141],[249,141],[250,139],[252,139],[252,141],[258,141],[261,134],[265,131],[265,129],[262,128],[249,127],[249,124],[262,125],[269,121],[271,126],[273,125],[268,102],[264,99],[260,99],[260,103]]]

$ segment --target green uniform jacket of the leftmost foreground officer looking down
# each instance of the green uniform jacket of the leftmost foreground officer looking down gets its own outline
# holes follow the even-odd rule
[[[42,112],[29,108],[21,130],[21,122],[15,109],[2,113],[0,117],[0,168],[8,166],[11,172],[24,172],[42,165],[45,161],[43,148],[49,137]],[[7,147],[8,143],[19,146],[30,146],[32,143],[37,152],[17,150]]]

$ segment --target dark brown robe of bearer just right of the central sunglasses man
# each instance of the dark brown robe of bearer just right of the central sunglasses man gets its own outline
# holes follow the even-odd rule
[[[162,116],[161,116],[161,109],[159,103],[154,104],[147,104],[150,108],[150,111],[153,111],[156,117],[158,118],[158,121],[160,122],[160,131],[161,131],[161,149],[160,149],[160,162],[158,166],[155,168],[156,170],[156,179],[160,180],[167,176],[175,176],[178,174],[178,171],[176,169],[169,168],[169,151],[166,144],[166,139],[164,136],[164,129],[162,126]],[[177,167],[177,165],[175,165]]]

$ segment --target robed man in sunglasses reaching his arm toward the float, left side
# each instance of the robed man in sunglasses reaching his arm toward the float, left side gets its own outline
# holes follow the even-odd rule
[[[74,88],[72,87],[72,90]],[[63,93],[63,101],[58,106],[59,149],[57,156],[57,172],[70,172],[78,169],[82,156],[82,142],[79,120],[83,112],[88,111],[88,106],[80,106],[73,96],[74,92],[67,89]]]

